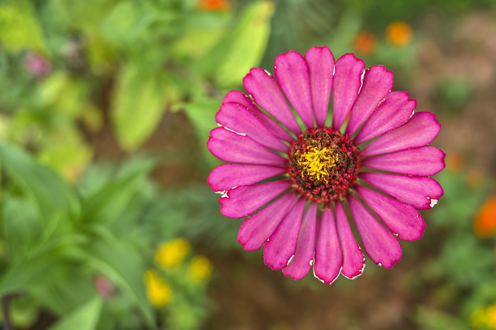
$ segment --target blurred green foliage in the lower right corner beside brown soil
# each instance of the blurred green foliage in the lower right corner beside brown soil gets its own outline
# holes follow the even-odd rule
[[[477,236],[473,219],[494,183],[481,180],[478,173],[467,171],[465,166],[448,166],[436,179],[444,189],[438,206],[446,207],[433,210],[432,237],[426,239],[434,242],[442,237],[442,243],[432,246],[438,254],[433,262],[422,266],[419,277],[439,284],[429,292],[434,308],[419,306],[416,323],[433,330],[492,329],[475,327],[472,317],[478,309],[496,301],[496,235]],[[444,312],[453,307],[455,314]]]

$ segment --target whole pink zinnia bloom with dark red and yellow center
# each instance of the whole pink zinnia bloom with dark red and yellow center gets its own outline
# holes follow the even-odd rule
[[[351,53],[335,62],[327,47],[289,51],[277,56],[274,74],[251,69],[248,96],[229,92],[216,115],[207,146],[230,163],[207,182],[222,194],[221,213],[247,217],[238,241],[246,250],[264,245],[272,269],[299,280],[313,267],[331,283],[365,266],[349,208],[369,257],[391,268],[401,259],[396,236],[422,237],[417,210],[443,194],[430,177],[445,156],[427,145],[440,129],[434,114],[415,112],[408,93],[391,92],[391,71],[366,70]]]

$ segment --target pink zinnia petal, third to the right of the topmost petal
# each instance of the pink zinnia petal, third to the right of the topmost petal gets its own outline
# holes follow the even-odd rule
[[[392,92],[372,113],[362,130],[354,139],[355,144],[370,140],[382,133],[404,125],[413,115],[417,101],[406,92]]]

